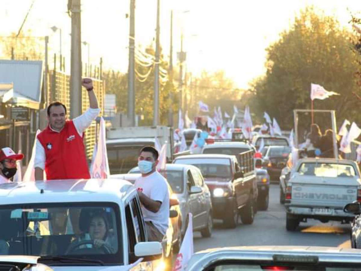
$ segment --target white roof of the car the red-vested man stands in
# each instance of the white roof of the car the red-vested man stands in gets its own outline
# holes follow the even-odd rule
[[[0,185],[0,205],[59,202],[119,202],[134,186],[125,180],[51,180]]]

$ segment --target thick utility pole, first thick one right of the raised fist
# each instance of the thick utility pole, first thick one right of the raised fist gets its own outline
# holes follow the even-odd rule
[[[128,64],[128,121],[135,126],[135,0],[130,0],[129,14],[129,64]]]

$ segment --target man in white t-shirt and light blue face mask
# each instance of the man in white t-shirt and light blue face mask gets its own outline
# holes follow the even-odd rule
[[[168,229],[169,192],[166,179],[156,171],[158,151],[145,146],[140,150],[138,167],[142,176],[135,180],[142,203],[148,241],[161,242]]]

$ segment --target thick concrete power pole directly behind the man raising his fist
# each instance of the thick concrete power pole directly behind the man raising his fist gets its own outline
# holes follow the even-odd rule
[[[71,3],[70,117],[82,113],[82,49],[80,0]]]

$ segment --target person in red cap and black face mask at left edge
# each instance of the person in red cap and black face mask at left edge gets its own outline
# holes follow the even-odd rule
[[[0,150],[0,184],[9,182],[16,173],[16,160],[22,160],[23,154],[16,154],[6,147]]]

